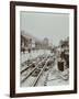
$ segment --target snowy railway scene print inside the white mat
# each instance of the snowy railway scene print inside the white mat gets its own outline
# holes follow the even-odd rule
[[[69,14],[20,12],[21,87],[69,84]]]

